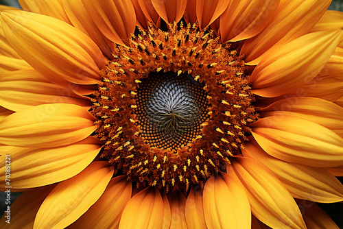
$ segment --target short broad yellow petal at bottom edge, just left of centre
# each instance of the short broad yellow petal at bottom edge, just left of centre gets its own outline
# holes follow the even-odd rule
[[[134,195],[121,215],[119,229],[162,228],[164,206],[157,188],[146,188]]]

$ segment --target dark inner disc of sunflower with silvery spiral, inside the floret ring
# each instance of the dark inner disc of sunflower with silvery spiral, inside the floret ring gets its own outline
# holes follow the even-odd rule
[[[209,119],[204,84],[191,75],[150,73],[137,89],[138,125],[148,145],[177,152],[201,134],[201,124]]]

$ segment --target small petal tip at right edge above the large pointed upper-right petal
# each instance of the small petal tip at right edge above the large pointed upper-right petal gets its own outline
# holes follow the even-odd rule
[[[311,29],[311,32],[341,29],[342,27],[343,12],[327,10],[318,23]]]

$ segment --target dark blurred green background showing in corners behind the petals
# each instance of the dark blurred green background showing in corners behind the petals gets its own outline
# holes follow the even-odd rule
[[[54,0],[51,0],[54,1]],[[321,0],[318,0],[321,1]],[[10,5],[16,8],[20,8],[18,1],[16,0],[0,0],[0,5]],[[339,10],[343,12],[343,0],[333,0],[329,10]],[[343,182],[343,177],[339,178],[340,182]],[[11,193],[12,202],[19,196],[20,193]],[[322,209],[324,209],[330,217],[335,221],[340,228],[343,229],[343,203],[335,204],[318,204]],[[5,210],[5,193],[0,192],[0,216]]]

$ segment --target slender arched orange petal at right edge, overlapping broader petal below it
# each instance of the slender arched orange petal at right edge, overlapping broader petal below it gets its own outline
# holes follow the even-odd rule
[[[300,117],[329,128],[338,135],[343,132],[343,108],[320,98],[292,97],[281,99],[261,109],[259,114],[261,117],[274,115]]]

